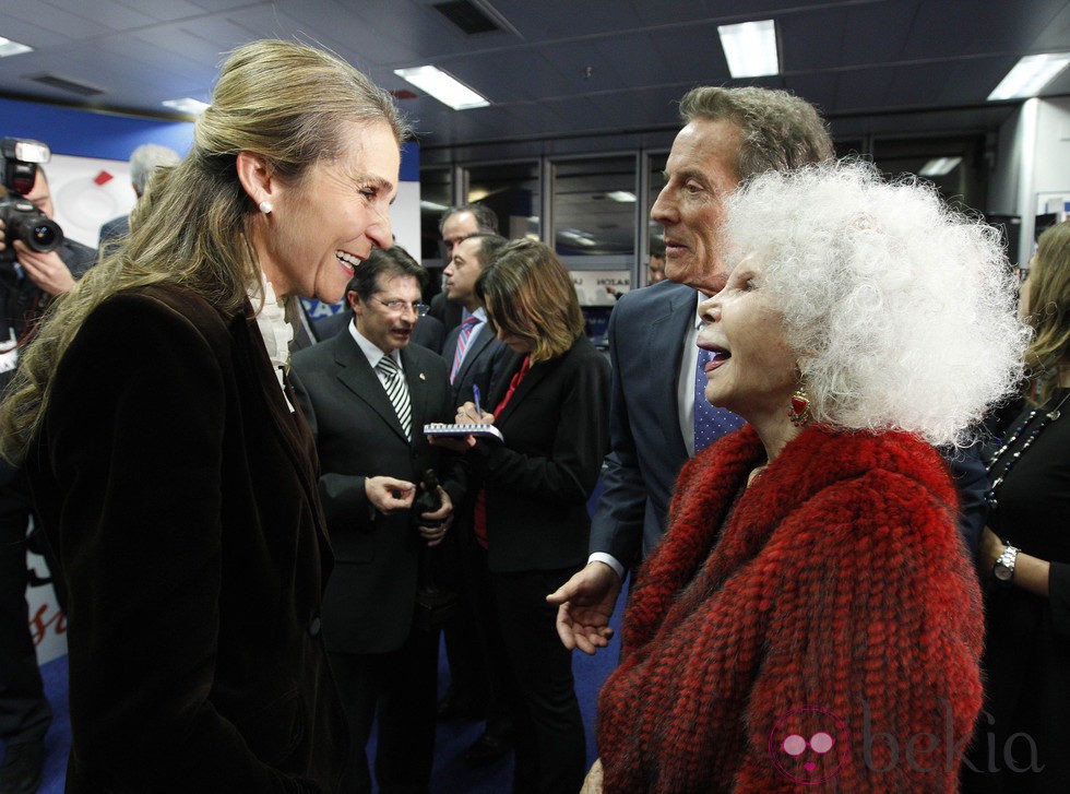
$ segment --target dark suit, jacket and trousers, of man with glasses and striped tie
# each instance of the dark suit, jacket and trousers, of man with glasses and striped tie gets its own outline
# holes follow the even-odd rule
[[[442,454],[420,432],[450,422],[445,365],[418,345],[401,353],[412,403],[405,438],[387,392],[348,332],[295,354],[292,378],[316,436],[320,495],[336,565],[323,602],[323,632],[354,734],[345,791],[370,791],[365,745],[378,711],[376,777],[387,791],[426,787],[435,739],[437,636],[413,627],[420,548],[409,512],[374,510],[365,479],[417,482],[441,472]],[[459,501],[451,469],[443,487]]]

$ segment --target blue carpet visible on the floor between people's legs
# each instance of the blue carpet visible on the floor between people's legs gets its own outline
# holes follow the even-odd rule
[[[620,631],[623,594],[617,604],[617,613],[611,625]],[[596,757],[594,745],[594,715],[598,690],[617,664],[620,653],[619,639],[614,639],[608,649],[595,656],[575,652],[572,669],[575,674],[576,697],[587,734],[587,763]],[[52,660],[40,668],[45,680],[45,694],[52,707],[52,724],[45,737],[45,771],[40,794],[62,794],[67,774],[67,752],[71,746],[71,721],[67,702],[67,656]],[[444,692],[449,684],[449,668],[445,653],[439,653],[439,691]],[[439,723],[435,745],[435,771],[431,780],[433,794],[497,794],[510,790],[513,773],[512,756],[482,769],[469,769],[463,761],[464,750],[483,733],[482,722],[452,720]],[[2,751],[2,747],[0,747]],[[373,750],[371,757],[374,757]]]

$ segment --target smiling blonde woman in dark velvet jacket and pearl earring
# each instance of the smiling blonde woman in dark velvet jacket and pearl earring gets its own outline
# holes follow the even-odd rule
[[[255,42],[132,235],[57,305],[2,406],[69,585],[69,792],[333,791],[333,560],[278,299],[335,303],[405,132],[337,58]]]

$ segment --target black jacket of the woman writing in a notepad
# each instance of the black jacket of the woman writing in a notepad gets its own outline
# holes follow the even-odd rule
[[[501,402],[521,358],[492,386]],[[586,336],[532,366],[495,423],[506,443],[473,450],[487,490],[492,572],[557,570],[586,558],[586,501],[608,449],[609,363]]]

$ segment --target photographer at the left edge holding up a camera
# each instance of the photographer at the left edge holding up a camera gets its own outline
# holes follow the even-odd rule
[[[2,197],[0,197],[2,198]],[[33,188],[26,193],[46,216],[52,200],[45,171],[38,166]],[[29,342],[48,304],[74,286],[96,261],[96,250],[63,240],[54,251],[38,252],[22,240],[13,244],[14,259],[5,244],[0,220],[0,391],[14,372],[23,345]],[[40,781],[44,739],[51,710],[41,687],[37,657],[29,637],[26,605],[26,531],[29,494],[21,470],[0,461],[0,738],[7,744],[0,765],[0,791],[34,792]],[[47,549],[43,549],[47,550]],[[55,572],[51,555],[49,569]],[[57,599],[63,605],[59,577],[54,578]]]

